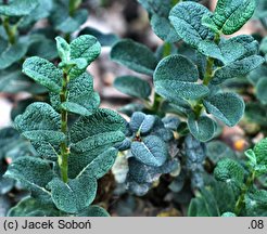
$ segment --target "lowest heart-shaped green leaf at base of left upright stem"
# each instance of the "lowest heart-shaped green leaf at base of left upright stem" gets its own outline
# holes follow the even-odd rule
[[[96,197],[97,180],[87,176],[77,177],[64,183],[59,178],[54,178],[48,187],[58,209],[77,213],[88,207]]]

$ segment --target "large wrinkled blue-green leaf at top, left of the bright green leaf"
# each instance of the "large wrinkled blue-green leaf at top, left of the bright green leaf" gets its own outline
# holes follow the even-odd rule
[[[182,40],[198,48],[201,41],[213,38],[213,32],[201,24],[201,18],[205,14],[209,14],[209,11],[204,5],[195,2],[181,2],[173,8],[169,20]]]

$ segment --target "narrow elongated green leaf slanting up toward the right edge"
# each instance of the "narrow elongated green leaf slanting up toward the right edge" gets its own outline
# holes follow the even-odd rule
[[[264,57],[259,55],[252,55],[240,61],[236,61],[229,65],[216,69],[212,84],[219,84],[227,79],[245,76],[253,69],[257,68],[265,62]]]

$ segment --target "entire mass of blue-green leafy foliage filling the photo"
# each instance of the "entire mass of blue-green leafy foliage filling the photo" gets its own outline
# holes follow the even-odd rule
[[[250,145],[267,135],[267,39],[230,37],[252,17],[266,26],[265,1],[137,2],[156,50],[84,27],[82,0],[0,1],[0,92],[29,94],[0,130],[3,216],[267,214],[266,139],[244,154],[221,141],[237,125]],[[132,70],[114,80],[135,99],[127,120],[100,108],[87,72],[102,47]]]

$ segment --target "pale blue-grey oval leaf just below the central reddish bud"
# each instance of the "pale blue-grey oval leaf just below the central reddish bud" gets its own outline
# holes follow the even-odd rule
[[[142,142],[132,142],[130,148],[135,158],[152,167],[162,166],[168,156],[166,144],[155,135],[149,135]]]

